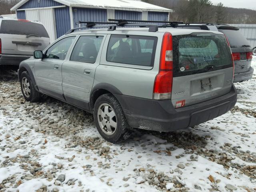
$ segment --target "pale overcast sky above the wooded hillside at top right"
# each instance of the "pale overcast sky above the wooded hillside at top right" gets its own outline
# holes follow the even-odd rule
[[[256,10],[256,0],[211,0],[211,2],[222,2],[226,7],[247,8]]]

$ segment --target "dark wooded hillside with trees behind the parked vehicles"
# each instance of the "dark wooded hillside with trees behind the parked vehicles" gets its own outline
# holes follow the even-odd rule
[[[256,24],[256,11],[224,7],[210,0],[142,0],[174,10],[170,20],[186,23]]]

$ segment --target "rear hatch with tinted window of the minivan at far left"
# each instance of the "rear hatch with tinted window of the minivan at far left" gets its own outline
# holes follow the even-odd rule
[[[2,54],[33,55],[34,50],[44,50],[50,38],[42,24],[24,20],[2,20]]]

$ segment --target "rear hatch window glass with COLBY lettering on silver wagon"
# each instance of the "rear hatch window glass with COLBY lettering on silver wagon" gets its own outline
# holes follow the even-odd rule
[[[173,37],[174,76],[200,74],[233,66],[226,37],[193,33]]]

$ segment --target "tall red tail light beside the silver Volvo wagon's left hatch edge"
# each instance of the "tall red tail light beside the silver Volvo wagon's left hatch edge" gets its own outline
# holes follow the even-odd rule
[[[154,83],[154,99],[166,100],[172,96],[173,79],[172,34],[165,32],[160,55],[159,72]]]

